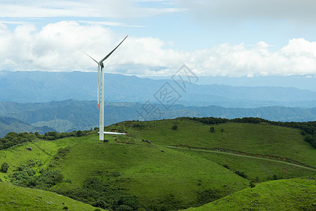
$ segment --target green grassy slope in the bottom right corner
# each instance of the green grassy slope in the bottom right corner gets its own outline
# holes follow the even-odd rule
[[[188,210],[315,210],[315,177],[257,184],[220,200]]]

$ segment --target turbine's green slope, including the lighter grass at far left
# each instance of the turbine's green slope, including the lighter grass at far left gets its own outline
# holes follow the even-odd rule
[[[125,137],[134,144],[119,143],[106,136],[110,143],[100,143],[98,136],[74,137],[56,141],[34,141],[0,151],[0,158],[10,165],[9,174],[29,160],[37,160],[41,168],[58,170],[64,180],[53,191],[74,190],[89,178],[103,179],[117,184],[126,193],[137,196],[145,205],[158,203],[173,195],[180,205],[195,205],[197,192],[207,188],[223,189],[223,196],[245,188],[249,181],[216,162],[173,149],[143,143]],[[124,138],[124,137],[123,137]],[[117,141],[115,141],[117,139]],[[115,141],[115,142],[114,142]],[[69,146],[65,159],[50,167],[58,148]],[[27,151],[27,147],[32,151]],[[164,152],[163,152],[164,151]],[[3,158],[3,159],[2,159]],[[1,176],[2,175],[2,176]],[[0,173],[4,179],[5,174]],[[154,188],[153,188],[154,187]]]

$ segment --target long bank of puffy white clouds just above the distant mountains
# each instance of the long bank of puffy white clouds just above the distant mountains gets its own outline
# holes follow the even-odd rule
[[[38,30],[0,23],[0,70],[96,71],[81,49],[100,60],[124,38],[103,25],[62,21]],[[133,75],[172,75],[186,64],[197,75],[313,75],[316,42],[291,39],[270,51],[263,41],[254,46],[220,44],[211,49],[176,51],[153,37],[128,37],[105,61],[106,71]]]

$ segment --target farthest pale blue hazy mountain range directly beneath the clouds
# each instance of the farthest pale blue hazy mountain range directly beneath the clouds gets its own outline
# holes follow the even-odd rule
[[[0,71],[0,101],[40,103],[70,98],[91,101],[96,100],[96,82],[96,72]],[[152,103],[159,103],[162,91],[168,91],[166,88],[173,91],[176,97],[176,101],[171,104],[185,106],[316,107],[316,91],[307,89],[183,84],[171,79],[105,74],[105,101],[145,103],[150,100]]]

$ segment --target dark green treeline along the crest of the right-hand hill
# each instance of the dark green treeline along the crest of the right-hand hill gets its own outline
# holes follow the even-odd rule
[[[202,122],[203,124],[223,124],[228,122],[242,122],[242,123],[266,123],[284,127],[291,127],[301,129],[301,134],[304,136],[305,141],[310,143],[312,147],[316,148],[316,121],[314,122],[274,122],[265,120],[258,117],[244,117],[235,118],[232,120],[220,118],[220,117],[179,117],[180,120],[193,120],[196,122]]]

